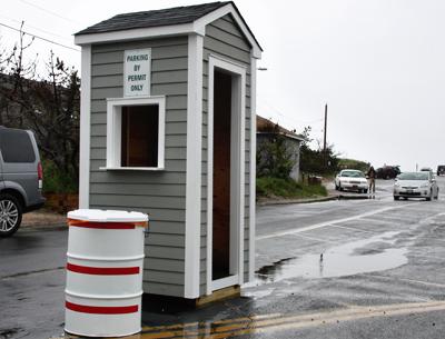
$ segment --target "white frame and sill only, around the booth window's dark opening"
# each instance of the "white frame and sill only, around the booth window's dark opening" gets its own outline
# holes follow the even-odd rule
[[[121,127],[123,106],[158,106],[158,166],[157,167],[122,167]],[[166,97],[127,97],[107,99],[107,161],[103,170],[142,170],[159,171],[165,169],[165,130],[166,130]]]

